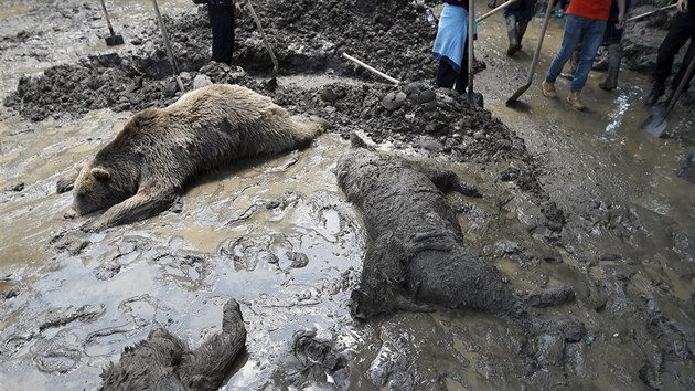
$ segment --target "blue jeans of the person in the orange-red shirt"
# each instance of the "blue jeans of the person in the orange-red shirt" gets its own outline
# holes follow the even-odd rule
[[[587,76],[589,75],[589,71],[591,71],[591,63],[594,62],[596,52],[601,45],[601,41],[603,41],[605,31],[605,20],[565,15],[563,43],[560,44],[559,51],[553,57],[553,63],[550,63],[545,80],[549,83],[555,83],[557,76],[563,72],[563,66],[565,66],[565,63],[571,56],[571,52],[581,43],[581,56],[579,59],[579,65],[577,65],[577,72],[575,72],[575,78],[571,82],[571,92],[577,93],[581,91],[587,83]]]

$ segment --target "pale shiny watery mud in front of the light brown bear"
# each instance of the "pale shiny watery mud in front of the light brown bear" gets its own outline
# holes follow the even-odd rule
[[[85,118],[90,137],[110,137],[99,125],[121,116]],[[100,368],[154,327],[199,344],[218,327],[225,297],[244,303],[248,345],[268,355],[254,353],[232,388],[267,377],[297,329],[349,323],[364,237],[331,171],[345,141],[323,136],[314,148],[240,163],[194,183],[180,212],[86,234],[84,219],[62,218],[72,196],[52,188],[93,151],[71,147],[86,142],[79,126],[63,130],[34,144],[55,154],[45,162],[54,175],[18,165],[12,173],[28,186],[0,204],[6,290],[19,293],[3,308],[2,353],[13,362],[3,387],[95,388]],[[56,317],[66,320],[45,326]]]

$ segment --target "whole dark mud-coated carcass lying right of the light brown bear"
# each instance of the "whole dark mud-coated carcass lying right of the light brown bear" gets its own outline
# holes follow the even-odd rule
[[[352,141],[338,161],[338,183],[362,212],[371,240],[352,293],[355,318],[431,310],[430,305],[518,316],[527,306],[575,299],[568,286],[516,290],[492,264],[470,253],[441,191],[480,193],[453,172],[377,152],[355,135]],[[571,323],[573,338],[581,332],[579,325]]]

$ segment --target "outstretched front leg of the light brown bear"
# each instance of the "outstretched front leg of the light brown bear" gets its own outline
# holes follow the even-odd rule
[[[129,199],[109,208],[101,216],[85,225],[86,231],[99,231],[109,226],[131,223],[157,215],[177,201],[173,189],[141,190]]]

